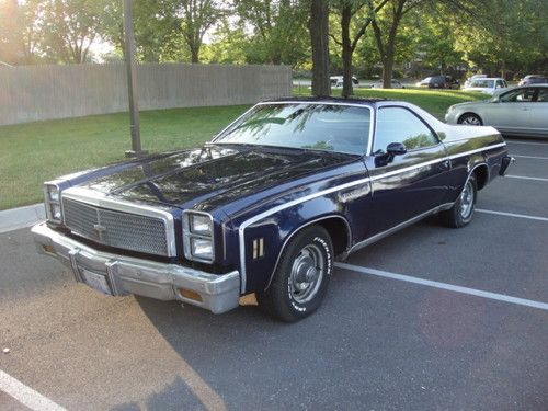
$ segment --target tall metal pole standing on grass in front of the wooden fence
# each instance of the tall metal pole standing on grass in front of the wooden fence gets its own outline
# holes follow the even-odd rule
[[[137,91],[133,11],[134,1],[124,0],[124,44],[127,70],[127,100],[129,102],[130,118],[129,132],[132,134],[132,150],[126,151],[127,157],[138,157],[146,153],[140,147],[139,95]]]

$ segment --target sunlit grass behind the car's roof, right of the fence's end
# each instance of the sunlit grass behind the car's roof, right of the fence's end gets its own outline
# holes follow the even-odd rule
[[[308,88],[294,88],[295,95],[310,95]],[[390,100],[403,100],[426,110],[429,113],[443,119],[449,105],[472,100],[486,100],[488,96],[481,93],[467,93],[458,90],[429,90],[429,89],[356,89],[357,98],[379,98]],[[333,90],[333,95],[341,95],[341,90]]]

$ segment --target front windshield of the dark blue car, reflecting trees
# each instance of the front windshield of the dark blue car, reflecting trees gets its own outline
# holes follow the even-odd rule
[[[368,107],[261,104],[231,125],[216,144],[246,144],[363,155],[369,136]]]

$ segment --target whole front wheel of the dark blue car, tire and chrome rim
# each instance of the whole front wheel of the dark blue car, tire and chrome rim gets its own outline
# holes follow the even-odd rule
[[[310,316],[321,305],[333,272],[333,244],[320,226],[302,229],[283,251],[266,290],[256,293],[259,307],[287,322]]]

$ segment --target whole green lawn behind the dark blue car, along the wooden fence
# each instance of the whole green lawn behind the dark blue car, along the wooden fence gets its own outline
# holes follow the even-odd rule
[[[308,89],[305,92],[309,93]],[[438,117],[452,104],[481,99],[459,91],[413,89],[358,89],[356,95],[409,101]],[[142,112],[142,148],[161,151],[197,146],[247,107]],[[123,159],[124,151],[130,148],[128,122],[128,115],[119,113],[1,126],[0,209],[41,202],[42,183],[46,180]]]

